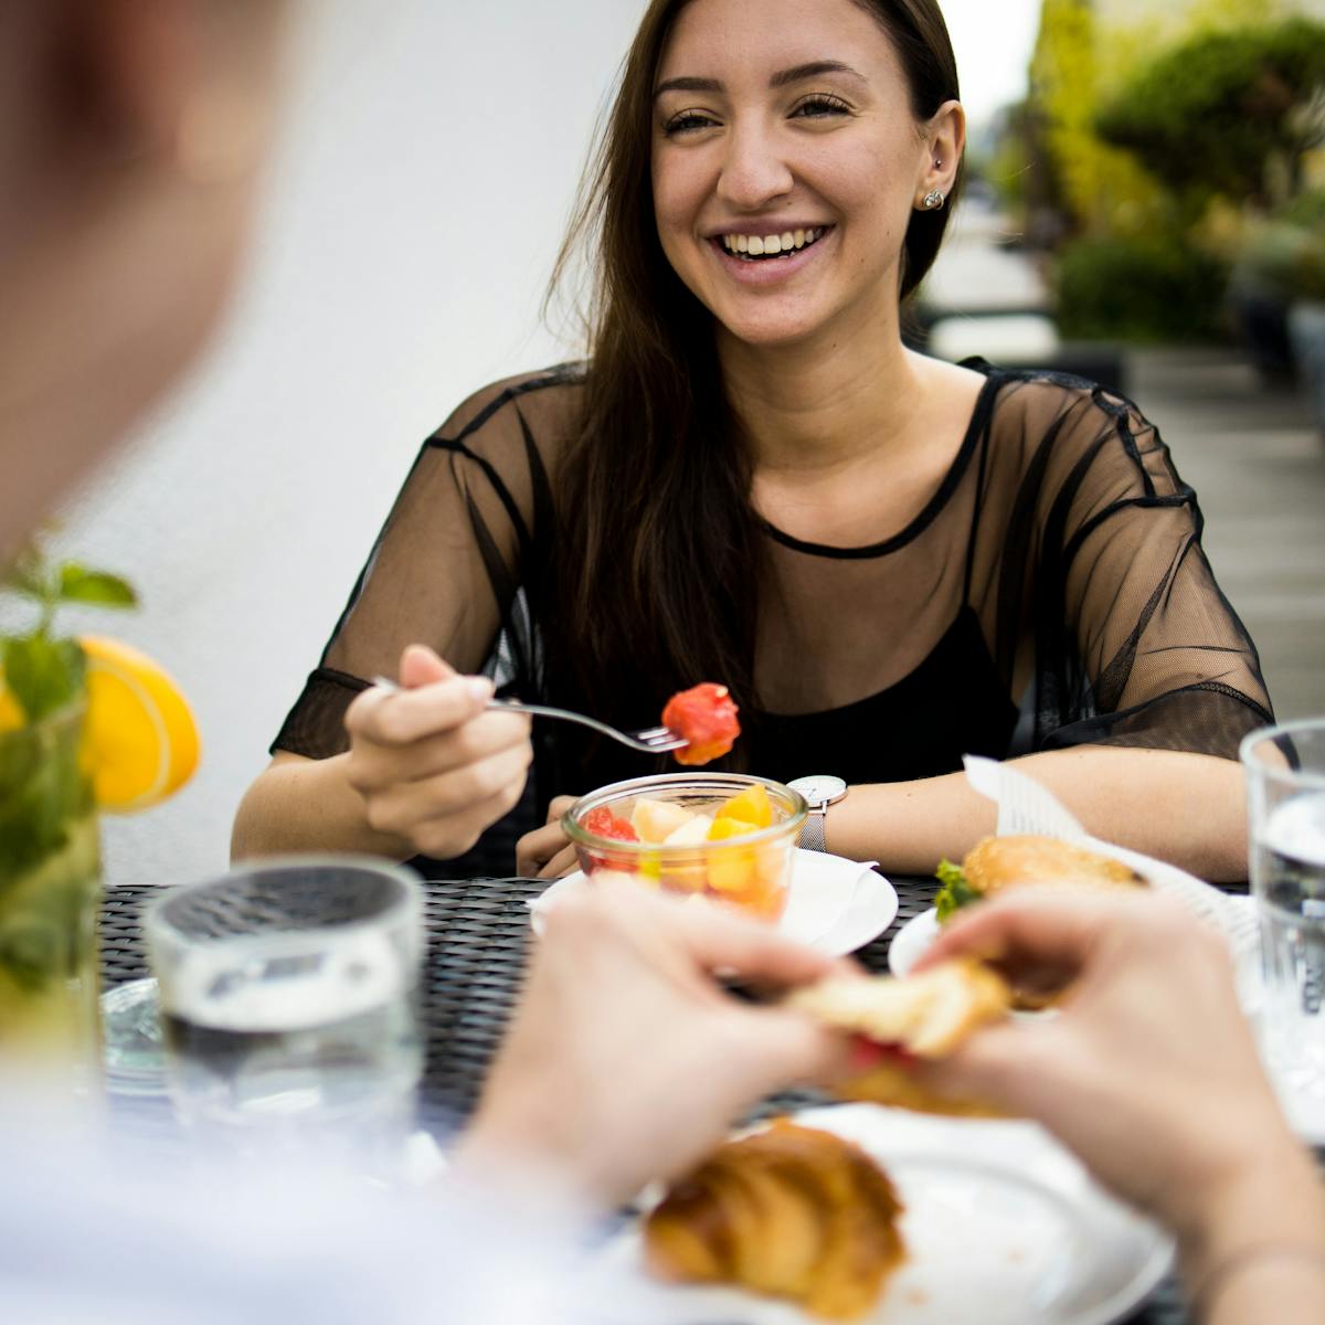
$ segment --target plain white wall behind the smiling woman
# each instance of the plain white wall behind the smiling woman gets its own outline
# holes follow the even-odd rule
[[[107,823],[111,882],[224,868],[421,439],[484,382],[568,356],[538,303],[641,8],[305,0],[232,317],[58,541],[146,602],[69,624],[166,662],[204,737],[182,795]]]

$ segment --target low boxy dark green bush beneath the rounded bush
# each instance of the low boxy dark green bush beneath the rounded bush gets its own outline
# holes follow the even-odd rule
[[[1227,278],[1185,240],[1079,240],[1059,256],[1059,329],[1081,341],[1219,339]]]

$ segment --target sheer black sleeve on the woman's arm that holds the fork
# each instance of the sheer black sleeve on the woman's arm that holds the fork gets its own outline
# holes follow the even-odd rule
[[[578,396],[568,367],[497,383],[424,441],[273,751],[343,751],[350,701],[372,676],[395,676],[411,643],[498,682],[533,669],[521,587],[550,525],[549,465]]]

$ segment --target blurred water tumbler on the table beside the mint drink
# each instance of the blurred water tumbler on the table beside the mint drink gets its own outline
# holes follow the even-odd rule
[[[144,917],[176,1113],[223,1154],[399,1161],[423,1068],[423,894],[370,857],[253,863]]]

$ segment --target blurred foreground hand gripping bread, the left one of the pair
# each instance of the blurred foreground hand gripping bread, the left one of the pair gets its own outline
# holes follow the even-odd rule
[[[840,971],[704,900],[595,888],[559,902],[464,1154],[611,1206],[694,1163],[761,1097],[823,1080],[840,1036],[731,998],[716,971],[787,988]]]

